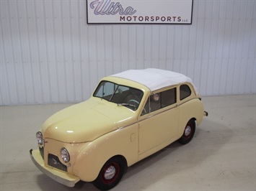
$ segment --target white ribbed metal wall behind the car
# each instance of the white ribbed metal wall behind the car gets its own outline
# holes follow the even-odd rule
[[[98,80],[158,67],[202,95],[256,93],[256,1],[194,0],[191,25],[87,25],[85,0],[0,0],[0,105],[79,102]]]

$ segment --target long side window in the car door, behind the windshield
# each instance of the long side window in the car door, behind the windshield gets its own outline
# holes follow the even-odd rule
[[[176,103],[176,88],[150,95],[141,116]]]

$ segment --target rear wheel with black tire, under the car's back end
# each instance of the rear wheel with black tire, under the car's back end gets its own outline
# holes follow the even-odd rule
[[[190,121],[187,122],[184,132],[180,137],[180,139],[178,139],[178,141],[180,142],[180,144],[187,144],[191,141],[194,134],[195,134],[195,120],[190,119]]]

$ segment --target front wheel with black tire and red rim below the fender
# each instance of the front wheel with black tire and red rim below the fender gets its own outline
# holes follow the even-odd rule
[[[124,172],[125,162],[123,162],[123,159],[113,157],[104,164],[93,184],[99,190],[110,190],[118,185]]]

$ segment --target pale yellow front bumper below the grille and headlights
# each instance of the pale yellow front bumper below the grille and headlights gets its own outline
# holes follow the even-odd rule
[[[53,169],[51,167],[45,167],[39,150],[33,151],[30,149],[30,158],[32,159],[32,162],[34,162],[35,166],[40,169],[40,171],[42,171],[56,182],[59,182],[68,187],[74,187],[76,182],[79,182],[80,180],[79,177],[76,177],[72,174],[67,174],[66,172],[61,172],[58,169]]]

